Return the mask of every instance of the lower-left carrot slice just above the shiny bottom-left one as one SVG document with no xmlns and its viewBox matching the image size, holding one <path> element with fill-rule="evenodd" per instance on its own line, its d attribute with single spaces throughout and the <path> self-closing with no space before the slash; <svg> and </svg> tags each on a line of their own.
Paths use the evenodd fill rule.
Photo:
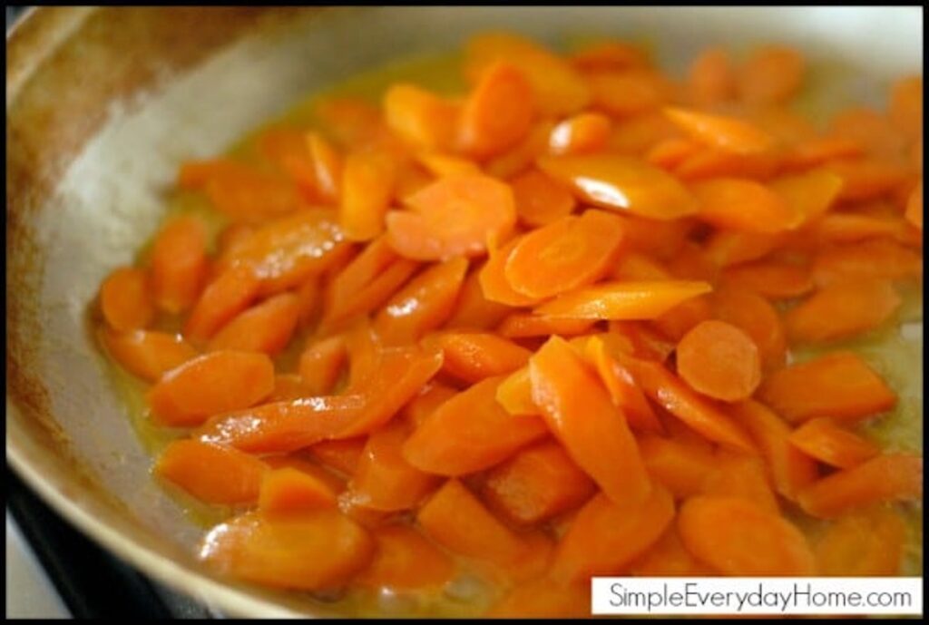
<svg viewBox="0 0 929 625">
<path fill-rule="evenodd" d="M 198 440 L 176 440 L 155 463 L 155 475 L 207 503 L 254 503 L 268 466 L 242 451 Z"/>
</svg>

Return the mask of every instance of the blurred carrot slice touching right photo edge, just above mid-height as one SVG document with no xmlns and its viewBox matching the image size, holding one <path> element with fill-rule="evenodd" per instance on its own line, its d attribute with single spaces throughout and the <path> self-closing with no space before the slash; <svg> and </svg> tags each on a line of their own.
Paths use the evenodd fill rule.
<svg viewBox="0 0 929 625">
<path fill-rule="evenodd" d="M 818 285 L 866 278 L 904 280 L 920 276 L 922 256 L 888 239 L 825 247 L 813 259 L 813 280 Z"/>
</svg>

